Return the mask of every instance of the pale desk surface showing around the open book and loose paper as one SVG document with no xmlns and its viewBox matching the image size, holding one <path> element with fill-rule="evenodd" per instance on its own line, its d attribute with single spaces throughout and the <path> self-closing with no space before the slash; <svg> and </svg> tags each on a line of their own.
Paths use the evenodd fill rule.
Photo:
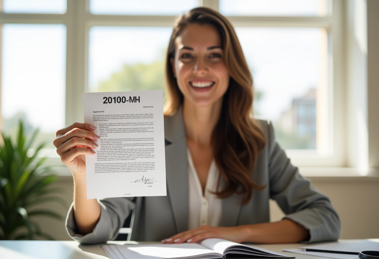
<svg viewBox="0 0 379 259">
<path fill-rule="evenodd" d="M 379 239 L 370 239 L 379 242 Z M 340 240 L 341 242 L 357 240 Z M 127 241 L 109 241 L 113 244 L 137 243 Z M 141 242 L 147 243 L 147 242 Z M 321 259 L 321 257 L 282 252 L 283 248 L 297 248 L 304 244 L 259 245 L 278 253 L 296 256 L 296 259 Z M 0 240 L 0 259 L 99 259 L 108 258 L 100 245 L 81 245 L 76 241 L 7 241 Z M 232 258 L 232 257 L 229 257 Z"/>
</svg>

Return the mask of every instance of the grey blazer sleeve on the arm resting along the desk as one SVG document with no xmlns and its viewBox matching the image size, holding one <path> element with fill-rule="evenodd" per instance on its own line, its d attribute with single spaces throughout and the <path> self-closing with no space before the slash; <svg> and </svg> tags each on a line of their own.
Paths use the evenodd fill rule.
<svg viewBox="0 0 379 259">
<path fill-rule="evenodd" d="M 294 167 L 274 137 L 274 129 L 268 123 L 269 185 L 270 198 L 275 200 L 284 218 L 296 222 L 310 232 L 307 243 L 337 240 L 341 223 L 329 198 L 316 190 L 308 179 Z"/>
</svg>

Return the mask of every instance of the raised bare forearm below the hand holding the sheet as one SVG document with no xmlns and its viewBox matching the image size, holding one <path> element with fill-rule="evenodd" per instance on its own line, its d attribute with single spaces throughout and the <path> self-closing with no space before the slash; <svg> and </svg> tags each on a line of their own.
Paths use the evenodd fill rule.
<svg viewBox="0 0 379 259">
<path fill-rule="evenodd" d="M 74 217 L 78 234 L 91 233 L 100 218 L 96 199 L 87 199 L 86 175 L 74 175 Z"/>
</svg>

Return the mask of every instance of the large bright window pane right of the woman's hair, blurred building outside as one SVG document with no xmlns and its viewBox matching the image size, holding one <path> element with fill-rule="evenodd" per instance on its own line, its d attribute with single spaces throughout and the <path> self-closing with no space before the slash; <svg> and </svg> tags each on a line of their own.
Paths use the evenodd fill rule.
<svg viewBox="0 0 379 259">
<path fill-rule="evenodd" d="M 309 110 L 316 113 L 316 99 L 328 98 L 317 96 L 328 87 L 326 30 L 236 27 L 236 33 L 253 74 L 255 114 L 273 122 L 283 148 L 316 150 L 316 137 L 327 136 L 316 136 L 316 117 Z M 326 119 L 318 123 L 327 124 Z"/>
</svg>

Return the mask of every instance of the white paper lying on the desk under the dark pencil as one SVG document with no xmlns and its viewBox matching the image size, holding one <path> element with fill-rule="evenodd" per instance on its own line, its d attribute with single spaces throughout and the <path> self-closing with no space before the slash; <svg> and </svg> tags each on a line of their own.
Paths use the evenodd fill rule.
<svg viewBox="0 0 379 259">
<path fill-rule="evenodd" d="M 358 259 L 359 252 L 367 250 L 379 251 L 379 242 L 373 242 L 368 240 L 360 240 L 353 242 L 330 242 L 321 245 L 310 245 L 294 249 L 283 249 L 283 251 L 285 252 L 309 254 L 313 256 L 335 259 Z"/>
</svg>

